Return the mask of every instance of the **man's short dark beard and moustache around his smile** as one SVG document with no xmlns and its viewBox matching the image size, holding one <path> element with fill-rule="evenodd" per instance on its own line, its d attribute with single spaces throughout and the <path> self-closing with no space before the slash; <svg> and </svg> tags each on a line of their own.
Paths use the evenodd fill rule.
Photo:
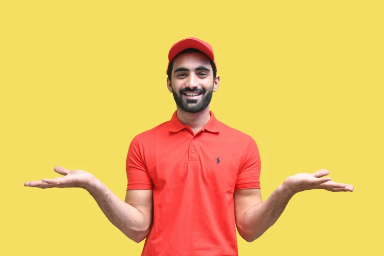
<svg viewBox="0 0 384 256">
<path fill-rule="evenodd" d="M 183 94 L 186 92 L 199 92 L 203 96 L 199 100 L 191 100 L 191 99 L 183 99 Z M 209 103 L 212 100 L 212 95 L 213 95 L 213 85 L 212 88 L 207 92 L 203 88 L 182 88 L 179 90 L 179 92 L 176 92 L 173 89 L 172 86 L 172 93 L 173 93 L 173 98 L 175 99 L 176 104 L 185 112 L 189 113 L 198 113 L 205 109 Z"/>
</svg>

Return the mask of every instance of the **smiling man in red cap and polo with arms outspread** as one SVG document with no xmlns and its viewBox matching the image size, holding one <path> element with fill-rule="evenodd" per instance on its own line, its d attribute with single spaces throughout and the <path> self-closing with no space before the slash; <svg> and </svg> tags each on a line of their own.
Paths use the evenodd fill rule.
<svg viewBox="0 0 384 256">
<path fill-rule="evenodd" d="M 125 202 L 83 170 L 25 186 L 81 187 L 105 216 L 135 242 L 142 256 L 235 256 L 236 229 L 252 242 L 271 227 L 298 192 L 353 191 L 327 170 L 288 177 L 262 202 L 260 157 L 254 139 L 219 122 L 209 110 L 220 77 L 211 46 L 183 39 L 168 55 L 167 87 L 177 110 L 171 120 L 131 141 Z"/>
</svg>

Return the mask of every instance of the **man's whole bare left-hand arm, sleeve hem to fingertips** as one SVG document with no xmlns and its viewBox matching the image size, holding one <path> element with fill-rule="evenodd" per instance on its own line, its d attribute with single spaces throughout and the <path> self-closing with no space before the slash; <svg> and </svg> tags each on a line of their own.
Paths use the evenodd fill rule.
<svg viewBox="0 0 384 256">
<path fill-rule="evenodd" d="M 90 173 L 82 170 L 69 171 L 63 167 L 55 167 L 54 171 L 65 176 L 27 181 L 24 185 L 39 188 L 83 188 L 95 199 L 108 220 L 129 239 L 138 243 L 148 235 L 153 214 L 152 190 L 128 190 L 126 202 L 123 202 Z"/>
</svg>

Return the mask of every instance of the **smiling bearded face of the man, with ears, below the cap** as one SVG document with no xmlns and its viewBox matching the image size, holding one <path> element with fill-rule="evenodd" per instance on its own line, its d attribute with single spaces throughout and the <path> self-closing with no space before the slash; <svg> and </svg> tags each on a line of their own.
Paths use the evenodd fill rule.
<svg viewBox="0 0 384 256">
<path fill-rule="evenodd" d="M 167 87 L 179 108 L 198 113 L 211 102 L 219 81 L 220 77 L 213 79 L 212 67 L 205 54 L 188 52 L 173 60 L 172 80 L 167 78 Z"/>
</svg>

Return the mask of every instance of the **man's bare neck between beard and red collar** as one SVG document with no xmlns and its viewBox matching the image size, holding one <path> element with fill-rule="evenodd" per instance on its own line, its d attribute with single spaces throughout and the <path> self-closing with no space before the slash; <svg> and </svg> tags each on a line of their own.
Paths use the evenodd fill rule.
<svg viewBox="0 0 384 256">
<path fill-rule="evenodd" d="M 177 106 L 178 118 L 184 126 L 189 126 L 195 133 L 203 128 L 211 118 L 209 114 L 209 105 L 198 113 L 185 112 Z"/>
</svg>

